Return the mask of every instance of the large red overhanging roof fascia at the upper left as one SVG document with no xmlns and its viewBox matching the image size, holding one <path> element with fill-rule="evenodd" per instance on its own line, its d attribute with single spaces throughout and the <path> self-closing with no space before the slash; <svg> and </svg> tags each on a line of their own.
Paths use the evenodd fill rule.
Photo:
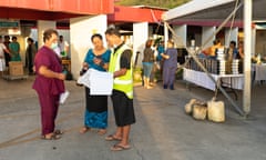
<svg viewBox="0 0 266 160">
<path fill-rule="evenodd" d="M 1 0 L 0 18 L 57 20 L 113 13 L 113 0 Z"/>
</svg>

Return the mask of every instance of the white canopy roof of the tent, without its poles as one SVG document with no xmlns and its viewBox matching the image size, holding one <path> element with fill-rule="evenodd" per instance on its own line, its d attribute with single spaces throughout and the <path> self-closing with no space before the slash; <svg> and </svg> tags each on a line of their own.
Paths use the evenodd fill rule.
<svg viewBox="0 0 266 160">
<path fill-rule="evenodd" d="M 242 1 L 242 0 L 239 0 Z M 193 0 L 164 13 L 170 23 L 222 22 L 235 8 L 236 0 Z M 266 20 L 266 0 L 253 1 L 253 21 Z M 236 12 L 236 21 L 243 21 L 243 6 Z"/>
</svg>

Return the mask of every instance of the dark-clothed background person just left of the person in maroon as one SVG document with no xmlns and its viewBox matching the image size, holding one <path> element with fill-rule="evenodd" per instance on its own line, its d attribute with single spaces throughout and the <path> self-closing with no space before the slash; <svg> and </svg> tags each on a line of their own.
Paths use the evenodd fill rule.
<svg viewBox="0 0 266 160">
<path fill-rule="evenodd" d="M 32 38 L 27 39 L 28 47 L 25 49 L 25 67 L 28 68 L 29 74 L 33 74 L 33 63 L 37 53 L 34 40 Z"/>
</svg>

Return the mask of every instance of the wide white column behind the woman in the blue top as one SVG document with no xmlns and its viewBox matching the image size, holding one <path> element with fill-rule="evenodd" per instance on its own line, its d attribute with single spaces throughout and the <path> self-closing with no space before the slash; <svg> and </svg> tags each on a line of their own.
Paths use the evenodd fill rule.
<svg viewBox="0 0 266 160">
<path fill-rule="evenodd" d="M 74 79 L 79 77 L 88 50 L 93 47 L 91 36 L 94 33 L 102 34 L 106 46 L 104 37 L 108 19 L 105 14 L 70 19 L 71 72 Z"/>
</svg>

